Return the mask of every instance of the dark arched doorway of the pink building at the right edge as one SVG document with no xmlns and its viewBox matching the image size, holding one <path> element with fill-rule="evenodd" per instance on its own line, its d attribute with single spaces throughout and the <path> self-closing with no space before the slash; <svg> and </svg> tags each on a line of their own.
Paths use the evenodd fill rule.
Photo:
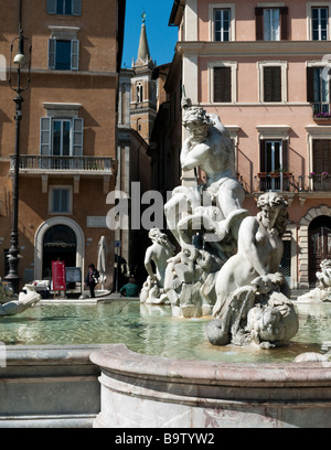
<svg viewBox="0 0 331 450">
<path fill-rule="evenodd" d="M 331 217 L 318 216 L 309 225 L 309 286 L 317 283 L 321 261 L 331 259 Z"/>
</svg>

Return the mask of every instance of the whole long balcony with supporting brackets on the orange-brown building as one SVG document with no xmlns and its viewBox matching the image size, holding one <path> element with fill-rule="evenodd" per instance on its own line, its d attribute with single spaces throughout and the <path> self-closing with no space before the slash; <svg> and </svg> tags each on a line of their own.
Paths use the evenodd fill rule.
<svg viewBox="0 0 331 450">
<path fill-rule="evenodd" d="M 10 157 L 10 174 L 13 173 L 14 157 Z M 75 193 L 79 192 L 82 176 L 104 179 L 104 193 L 109 192 L 111 175 L 116 176 L 117 161 L 104 157 L 43 157 L 23 154 L 19 161 L 20 175 L 42 176 L 43 192 L 47 192 L 49 176 L 73 176 Z"/>
</svg>

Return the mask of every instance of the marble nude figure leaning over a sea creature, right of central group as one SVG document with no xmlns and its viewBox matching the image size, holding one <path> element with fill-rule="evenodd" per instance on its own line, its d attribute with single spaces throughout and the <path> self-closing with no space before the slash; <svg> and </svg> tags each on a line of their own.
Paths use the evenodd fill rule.
<svg viewBox="0 0 331 450">
<path fill-rule="evenodd" d="M 258 199 L 260 212 L 246 217 L 238 234 L 238 251 L 220 270 L 214 321 L 206 335 L 215 345 L 257 343 L 270 347 L 298 332 L 298 317 L 289 287 L 278 272 L 286 229 L 287 202 L 277 193 Z"/>
</svg>

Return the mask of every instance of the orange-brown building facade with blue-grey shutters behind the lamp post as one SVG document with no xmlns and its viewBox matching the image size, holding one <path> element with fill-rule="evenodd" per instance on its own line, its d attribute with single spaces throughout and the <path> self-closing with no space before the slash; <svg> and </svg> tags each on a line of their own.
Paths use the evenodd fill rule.
<svg viewBox="0 0 331 450">
<path fill-rule="evenodd" d="M 19 160 L 19 275 L 51 277 L 51 264 L 97 264 L 107 243 L 113 282 L 114 233 L 106 226 L 117 175 L 117 99 L 125 0 L 24 0 L 22 29 L 32 44 Z M 0 0 L 0 54 L 9 66 L 19 32 L 19 0 Z M 26 49 L 26 47 L 25 47 Z M 13 69 L 13 78 L 14 72 Z M 25 78 L 24 78 L 25 77 Z M 26 69 L 22 69 L 23 82 Z M 13 79 L 14 82 L 14 79 Z M 8 68 L 0 81 L 0 276 L 8 271 L 14 154 L 14 93 Z"/>
</svg>

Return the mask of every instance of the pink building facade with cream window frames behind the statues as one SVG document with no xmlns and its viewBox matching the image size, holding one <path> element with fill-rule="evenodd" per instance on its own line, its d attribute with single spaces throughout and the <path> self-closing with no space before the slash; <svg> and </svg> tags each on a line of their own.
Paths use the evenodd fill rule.
<svg viewBox="0 0 331 450">
<path fill-rule="evenodd" d="M 288 200 L 281 270 L 314 286 L 331 258 L 331 1 L 175 0 L 170 24 L 186 96 L 233 137 L 245 206 Z"/>
</svg>

